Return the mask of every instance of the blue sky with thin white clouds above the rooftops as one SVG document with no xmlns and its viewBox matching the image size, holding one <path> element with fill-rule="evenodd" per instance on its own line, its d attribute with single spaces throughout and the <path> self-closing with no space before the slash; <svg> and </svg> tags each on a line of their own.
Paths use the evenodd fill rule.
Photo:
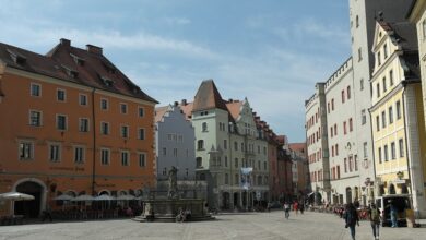
<svg viewBox="0 0 426 240">
<path fill-rule="evenodd" d="M 305 141 L 305 99 L 351 55 L 348 0 L 0 0 L 0 41 L 104 48 L 145 93 L 192 100 L 213 79 L 277 134 Z"/>
</svg>

